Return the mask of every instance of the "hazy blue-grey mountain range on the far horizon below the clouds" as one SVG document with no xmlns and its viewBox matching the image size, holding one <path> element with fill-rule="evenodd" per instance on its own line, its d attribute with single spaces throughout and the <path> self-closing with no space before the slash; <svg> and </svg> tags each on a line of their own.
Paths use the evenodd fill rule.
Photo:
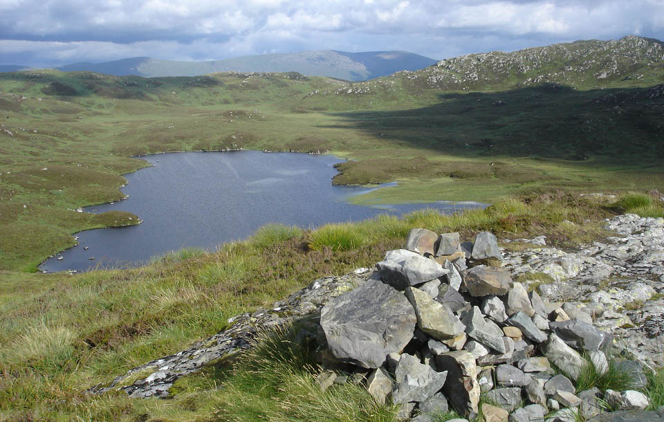
<svg viewBox="0 0 664 422">
<path fill-rule="evenodd" d="M 350 81 L 369 80 L 398 71 L 417 71 L 436 64 L 436 60 L 406 51 L 369 51 L 346 53 L 319 50 L 299 53 L 264 54 L 234 57 L 212 62 L 175 62 L 150 57 L 131 57 L 103 63 L 73 63 L 60 71 L 93 71 L 108 75 L 198 76 L 214 72 L 298 72 Z"/>
</svg>

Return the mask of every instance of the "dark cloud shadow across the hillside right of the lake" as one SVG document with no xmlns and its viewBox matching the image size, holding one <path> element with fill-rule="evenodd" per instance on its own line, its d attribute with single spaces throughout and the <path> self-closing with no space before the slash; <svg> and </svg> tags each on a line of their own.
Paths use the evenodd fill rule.
<svg viewBox="0 0 664 422">
<path fill-rule="evenodd" d="M 660 90 L 661 91 L 661 90 Z M 664 158 L 664 95 L 541 86 L 451 93 L 428 107 L 335 113 L 376 140 L 453 156 L 539 157 L 643 166 Z"/>
</svg>

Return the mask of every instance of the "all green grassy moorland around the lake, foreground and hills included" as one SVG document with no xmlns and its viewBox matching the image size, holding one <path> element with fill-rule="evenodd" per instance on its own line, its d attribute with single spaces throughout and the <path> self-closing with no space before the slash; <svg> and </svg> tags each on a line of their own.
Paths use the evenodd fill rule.
<svg viewBox="0 0 664 422">
<path fill-rule="evenodd" d="M 643 51 L 660 44 L 647 41 Z M 585 57 L 593 45 L 564 51 Z M 297 365 L 270 363 L 262 351 L 254 366 L 213 365 L 178 381 L 167 401 L 82 391 L 316 277 L 371 266 L 413 227 L 464 239 L 478 230 L 547 235 L 573 247 L 605 235 L 601 221 L 616 212 L 661 215 L 661 202 L 643 193 L 664 191 L 661 60 L 627 61 L 599 78 L 598 68 L 560 71 L 583 62 L 559 53 L 522 53 L 539 66 L 522 73 L 518 61 L 498 68 L 503 55 L 481 55 L 356 84 L 297 73 L 0 73 L 0 420 L 311 421 L 324 419 L 321 409 L 335 421 L 394 420 L 394 409 L 376 407 L 361 389 L 317 392 L 304 349 L 288 352 L 300 356 Z M 495 66 L 477 67 L 488 62 Z M 534 83 L 538 72 L 553 76 Z M 75 211 L 121 199 L 122 174 L 147 165 L 131 156 L 239 148 L 330 152 L 349 159 L 333 183 L 399 182 L 353 197 L 358 203 L 495 205 L 313 232 L 268 227 L 214 253 L 183 250 L 140 268 L 33 273 L 72 246 L 74 232 L 145 217 Z"/>
</svg>

